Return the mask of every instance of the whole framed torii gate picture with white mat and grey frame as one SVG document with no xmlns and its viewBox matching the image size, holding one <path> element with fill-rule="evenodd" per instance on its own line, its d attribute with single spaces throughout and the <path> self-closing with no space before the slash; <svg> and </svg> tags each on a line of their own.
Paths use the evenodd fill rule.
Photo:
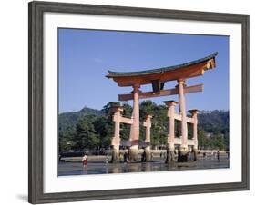
<svg viewBox="0 0 256 205">
<path fill-rule="evenodd" d="M 249 190 L 249 15 L 28 7 L 30 203 Z"/>
</svg>

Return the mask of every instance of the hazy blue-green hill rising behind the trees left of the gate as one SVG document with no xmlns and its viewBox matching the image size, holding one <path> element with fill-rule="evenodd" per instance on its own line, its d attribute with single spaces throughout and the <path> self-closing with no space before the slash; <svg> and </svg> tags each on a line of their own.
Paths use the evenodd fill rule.
<svg viewBox="0 0 256 205">
<path fill-rule="evenodd" d="M 102 116 L 104 113 L 97 109 L 88 108 L 85 106 L 78 112 L 64 112 L 58 114 L 58 126 L 60 131 L 65 131 L 67 128 L 74 127 L 78 120 L 87 115 Z"/>
</svg>

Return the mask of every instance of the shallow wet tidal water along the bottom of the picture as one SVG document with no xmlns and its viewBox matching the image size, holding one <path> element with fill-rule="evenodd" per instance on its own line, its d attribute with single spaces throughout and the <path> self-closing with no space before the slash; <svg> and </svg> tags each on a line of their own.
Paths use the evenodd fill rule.
<svg viewBox="0 0 256 205">
<path fill-rule="evenodd" d="M 84 168 L 81 162 L 59 162 L 58 176 L 84 175 L 84 174 L 110 174 L 110 173 L 129 173 L 144 171 L 184 171 L 198 169 L 221 169 L 229 168 L 230 161 L 222 156 L 220 161 L 215 158 L 200 158 L 198 161 L 189 161 L 186 163 L 174 163 L 168 165 L 163 159 L 156 159 L 151 162 L 133 162 L 133 163 L 106 163 L 103 161 L 88 161 Z"/>
</svg>

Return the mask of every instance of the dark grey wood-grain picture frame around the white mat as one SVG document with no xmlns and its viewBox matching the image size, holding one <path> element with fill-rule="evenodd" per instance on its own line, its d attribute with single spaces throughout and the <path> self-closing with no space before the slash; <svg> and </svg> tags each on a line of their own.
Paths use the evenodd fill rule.
<svg viewBox="0 0 256 205">
<path fill-rule="evenodd" d="M 219 184 L 169 186 L 124 190 L 93 190 L 44 193 L 43 181 L 43 15 L 46 12 L 150 17 L 209 22 L 238 23 L 242 26 L 242 181 Z M 52 2 L 28 4 L 28 201 L 30 203 L 78 200 L 110 200 L 175 194 L 249 190 L 249 15 L 191 12 L 109 5 L 81 5 Z"/>
</svg>

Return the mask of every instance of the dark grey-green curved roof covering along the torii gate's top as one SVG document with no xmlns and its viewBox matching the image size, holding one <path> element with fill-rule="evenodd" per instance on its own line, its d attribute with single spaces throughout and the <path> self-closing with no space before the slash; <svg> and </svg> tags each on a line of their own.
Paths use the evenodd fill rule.
<svg viewBox="0 0 256 205">
<path fill-rule="evenodd" d="M 153 73 L 162 73 L 170 70 L 176 70 L 182 67 L 190 66 L 193 64 L 197 63 L 203 63 L 211 58 L 215 58 L 215 56 L 218 54 L 218 52 L 215 52 L 213 54 L 210 54 L 206 57 L 200 58 L 198 60 L 194 60 L 188 63 L 181 63 L 178 65 L 173 65 L 173 66 L 168 66 L 168 67 L 162 67 L 162 68 L 156 68 L 156 69 L 149 69 L 149 70 L 144 70 L 144 71 L 136 71 L 136 72 L 114 72 L 114 71 L 109 71 L 108 70 L 108 75 L 106 77 L 111 78 L 111 77 L 123 77 L 123 76 L 136 76 L 136 75 L 147 75 L 147 74 L 153 74 Z"/>
</svg>

